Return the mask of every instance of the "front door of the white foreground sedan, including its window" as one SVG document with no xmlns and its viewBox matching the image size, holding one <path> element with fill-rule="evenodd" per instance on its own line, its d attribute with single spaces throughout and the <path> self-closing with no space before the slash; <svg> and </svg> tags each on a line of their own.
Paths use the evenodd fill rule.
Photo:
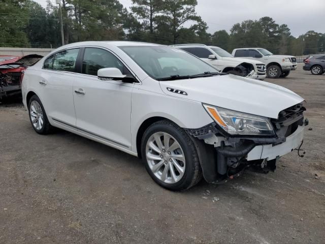
<svg viewBox="0 0 325 244">
<path fill-rule="evenodd" d="M 97 71 L 118 68 L 125 75 L 131 73 L 106 49 L 83 48 L 80 59 L 81 74 L 73 84 L 77 129 L 108 144 L 130 149 L 134 83 L 101 80 Z"/>
</svg>

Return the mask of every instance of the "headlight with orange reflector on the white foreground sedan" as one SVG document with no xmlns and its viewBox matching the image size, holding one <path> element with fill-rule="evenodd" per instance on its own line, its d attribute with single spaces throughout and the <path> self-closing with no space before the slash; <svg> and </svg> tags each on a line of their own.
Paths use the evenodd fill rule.
<svg viewBox="0 0 325 244">
<path fill-rule="evenodd" d="M 270 119 L 249 113 L 203 104 L 218 125 L 232 135 L 274 135 Z"/>
</svg>

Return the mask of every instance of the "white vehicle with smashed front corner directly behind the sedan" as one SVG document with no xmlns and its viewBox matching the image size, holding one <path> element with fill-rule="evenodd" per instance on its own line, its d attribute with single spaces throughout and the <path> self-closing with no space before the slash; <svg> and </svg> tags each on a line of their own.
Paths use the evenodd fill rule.
<svg viewBox="0 0 325 244">
<path fill-rule="evenodd" d="M 235 58 L 232 54 L 220 47 L 206 46 L 203 44 L 172 46 L 196 55 L 221 72 L 258 80 L 264 80 L 266 77 L 266 66 L 264 63 L 248 58 Z"/>
</svg>

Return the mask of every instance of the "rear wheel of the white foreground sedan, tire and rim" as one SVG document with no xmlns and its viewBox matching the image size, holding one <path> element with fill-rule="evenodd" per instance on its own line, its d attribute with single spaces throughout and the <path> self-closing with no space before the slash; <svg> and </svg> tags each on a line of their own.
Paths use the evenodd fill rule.
<svg viewBox="0 0 325 244">
<path fill-rule="evenodd" d="M 52 126 L 47 119 L 45 109 L 38 96 L 34 95 L 30 98 L 28 112 L 31 126 L 37 133 L 46 135 L 51 132 Z"/>
</svg>

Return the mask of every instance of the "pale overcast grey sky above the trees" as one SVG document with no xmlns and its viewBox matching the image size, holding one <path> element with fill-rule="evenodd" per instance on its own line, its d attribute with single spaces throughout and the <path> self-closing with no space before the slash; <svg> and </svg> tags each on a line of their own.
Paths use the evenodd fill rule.
<svg viewBox="0 0 325 244">
<path fill-rule="evenodd" d="M 35 1 L 45 4 L 45 0 Z M 119 2 L 127 9 L 131 7 L 131 0 Z M 236 23 L 264 16 L 279 25 L 287 24 L 295 37 L 311 30 L 325 33 L 325 0 L 198 0 L 196 11 L 207 22 L 211 34 L 220 29 L 229 32 Z"/>
</svg>

